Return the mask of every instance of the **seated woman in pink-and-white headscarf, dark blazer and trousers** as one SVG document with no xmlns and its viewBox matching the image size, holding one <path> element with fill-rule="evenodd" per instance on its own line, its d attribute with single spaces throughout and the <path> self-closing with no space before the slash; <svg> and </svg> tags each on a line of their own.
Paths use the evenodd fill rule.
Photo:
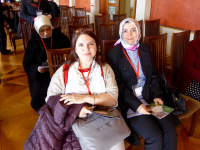
<svg viewBox="0 0 200 150">
<path fill-rule="evenodd" d="M 139 23 L 132 18 L 124 19 L 119 36 L 115 47 L 108 52 L 108 64 L 118 84 L 121 113 L 132 131 L 132 137 L 127 140 L 140 145 L 136 132 L 145 139 L 145 149 L 176 150 L 176 125 L 171 115 L 155 118 L 145 106 L 153 101 L 156 105 L 163 104 L 163 101 L 150 50 L 139 44 Z"/>
</svg>

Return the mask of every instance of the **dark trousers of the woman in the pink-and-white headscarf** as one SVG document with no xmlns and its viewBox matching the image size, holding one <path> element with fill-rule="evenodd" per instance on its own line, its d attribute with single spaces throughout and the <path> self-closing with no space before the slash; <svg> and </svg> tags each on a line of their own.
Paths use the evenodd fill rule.
<svg viewBox="0 0 200 150">
<path fill-rule="evenodd" d="M 141 115 L 128 119 L 131 130 L 145 139 L 145 150 L 176 150 L 176 125 L 171 115 L 157 119 Z"/>
</svg>

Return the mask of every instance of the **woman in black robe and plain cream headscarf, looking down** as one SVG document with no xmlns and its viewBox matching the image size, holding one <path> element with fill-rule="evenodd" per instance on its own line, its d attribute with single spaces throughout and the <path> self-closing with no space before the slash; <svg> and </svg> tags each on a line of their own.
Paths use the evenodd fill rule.
<svg viewBox="0 0 200 150">
<path fill-rule="evenodd" d="M 45 104 L 50 75 L 47 69 L 41 69 L 43 62 L 47 61 L 46 49 L 59 49 L 70 47 L 67 36 L 53 29 L 47 16 L 35 19 L 34 27 L 37 32 L 32 34 L 24 54 L 23 66 L 28 76 L 31 93 L 31 106 L 37 111 Z"/>
</svg>

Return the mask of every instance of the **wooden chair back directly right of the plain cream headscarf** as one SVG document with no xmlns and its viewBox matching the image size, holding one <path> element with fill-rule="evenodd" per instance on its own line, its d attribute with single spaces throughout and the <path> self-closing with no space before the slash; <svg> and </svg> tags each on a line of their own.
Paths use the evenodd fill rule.
<svg viewBox="0 0 200 150">
<path fill-rule="evenodd" d="M 60 26 L 61 32 L 66 36 L 68 35 L 67 17 L 53 18 L 53 19 L 51 19 L 51 24 L 53 27 Z"/>
</svg>

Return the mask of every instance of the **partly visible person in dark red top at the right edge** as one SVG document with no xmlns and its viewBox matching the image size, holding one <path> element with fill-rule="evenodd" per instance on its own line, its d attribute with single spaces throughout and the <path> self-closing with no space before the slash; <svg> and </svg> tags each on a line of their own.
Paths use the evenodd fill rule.
<svg viewBox="0 0 200 150">
<path fill-rule="evenodd" d="M 200 101 L 200 40 L 186 47 L 176 86 L 181 93 Z"/>
</svg>

